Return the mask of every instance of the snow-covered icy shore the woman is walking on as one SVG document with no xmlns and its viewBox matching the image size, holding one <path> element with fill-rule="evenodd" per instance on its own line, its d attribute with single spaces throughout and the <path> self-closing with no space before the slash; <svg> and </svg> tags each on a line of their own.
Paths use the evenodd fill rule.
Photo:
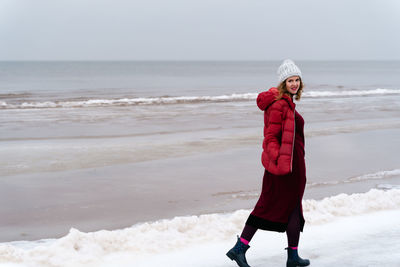
<svg viewBox="0 0 400 267">
<path fill-rule="evenodd" d="M 315 266 L 396 266 L 400 189 L 372 189 L 304 201 L 301 255 Z M 225 257 L 249 210 L 176 217 L 114 231 L 71 229 L 60 239 L 0 244 L 0 266 L 235 266 Z M 263 232 L 251 242 L 252 266 L 282 265 L 286 237 Z"/>
</svg>

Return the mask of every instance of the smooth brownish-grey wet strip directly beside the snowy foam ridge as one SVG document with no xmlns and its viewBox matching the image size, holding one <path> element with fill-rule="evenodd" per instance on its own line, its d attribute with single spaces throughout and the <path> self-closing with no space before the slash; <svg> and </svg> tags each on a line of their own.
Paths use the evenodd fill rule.
<svg viewBox="0 0 400 267">
<path fill-rule="evenodd" d="M 399 169 L 399 129 L 306 140 L 309 183 Z M 261 189 L 261 147 L 74 171 L 3 176 L 0 242 L 120 229 L 180 215 L 252 208 Z M 310 186 L 306 198 L 366 192 L 400 177 Z"/>
</svg>

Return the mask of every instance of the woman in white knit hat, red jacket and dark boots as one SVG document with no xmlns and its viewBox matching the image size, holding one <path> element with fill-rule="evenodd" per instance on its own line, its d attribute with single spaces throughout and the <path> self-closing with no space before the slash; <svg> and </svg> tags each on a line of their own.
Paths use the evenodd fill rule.
<svg viewBox="0 0 400 267">
<path fill-rule="evenodd" d="M 295 110 L 303 91 L 301 71 L 291 60 L 278 69 L 279 86 L 257 97 L 264 111 L 262 164 L 265 168 L 260 198 L 246 221 L 236 245 L 226 254 L 240 267 L 247 267 L 245 253 L 257 229 L 286 232 L 286 266 L 308 266 L 298 256 L 297 246 L 304 217 L 302 198 L 306 185 L 304 161 L 304 120 Z"/>
</svg>

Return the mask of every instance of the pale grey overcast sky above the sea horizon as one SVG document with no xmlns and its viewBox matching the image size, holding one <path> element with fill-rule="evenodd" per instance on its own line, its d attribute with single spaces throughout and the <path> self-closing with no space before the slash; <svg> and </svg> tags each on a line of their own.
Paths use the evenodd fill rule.
<svg viewBox="0 0 400 267">
<path fill-rule="evenodd" d="M 400 60 L 400 0 L 0 0 L 0 60 Z"/>
</svg>

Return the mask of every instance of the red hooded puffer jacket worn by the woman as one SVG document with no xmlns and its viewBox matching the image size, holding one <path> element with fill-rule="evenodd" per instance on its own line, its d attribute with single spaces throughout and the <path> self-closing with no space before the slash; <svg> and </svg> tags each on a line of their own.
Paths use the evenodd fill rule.
<svg viewBox="0 0 400 267">
<path fill-rule="evenodd" d="M 257 105 L 264 111 L 261 162 L 268 172 L 285 175 L 292 172 L 296 104 L 287 95 L 276 100 L 278 94 L 273 87 L 257 97 Z"/>
</svg>

